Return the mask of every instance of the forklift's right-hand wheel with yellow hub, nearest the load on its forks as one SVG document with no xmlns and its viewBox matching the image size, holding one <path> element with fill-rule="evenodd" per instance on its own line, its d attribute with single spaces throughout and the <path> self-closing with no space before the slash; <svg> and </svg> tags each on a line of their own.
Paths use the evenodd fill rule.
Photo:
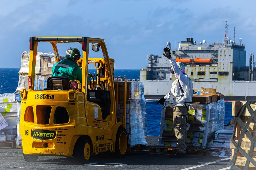
<svg viewBox="0 0 256 170">
<path fill-rule="evenodd" d="M 127 151 L 128 139 L 125 128 L 119 127 L 116 134 L 116 155 L 118 158 L 125 157 Z"/>
</svg>

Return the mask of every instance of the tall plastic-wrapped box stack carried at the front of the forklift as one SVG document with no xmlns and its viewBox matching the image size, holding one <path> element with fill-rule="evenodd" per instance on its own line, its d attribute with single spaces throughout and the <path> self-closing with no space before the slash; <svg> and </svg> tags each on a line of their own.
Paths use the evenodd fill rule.
<svg viewBox="0 0 256 170">
<path fill-rule="evenodd" d="M 115 82 L 117 95 L 117 82 Z M 123 116 L 125 99 L 125 82 L 118 82 L 117 117 Z M 137 144 L 147 145 L 146 99 L 142 82 L 127 82 L 126 92 L 126 131 L 130 147 Z"/>
</svg>

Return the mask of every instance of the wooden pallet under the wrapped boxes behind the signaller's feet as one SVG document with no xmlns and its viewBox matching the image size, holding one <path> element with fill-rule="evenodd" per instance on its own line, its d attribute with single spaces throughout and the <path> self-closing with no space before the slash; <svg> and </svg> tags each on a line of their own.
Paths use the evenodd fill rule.
<svg viewBox="0 0 256 170">
<path fill-rule="evenodd" d="M 167 147 L 167 146 L 149 146 L 150 154 L 158 155 L 170 155 L 172 152 L 176 152 L 177 147 Z M 206 156 L 206 150 L 202 148 L 187 148 L 186 151 L 189 156 Z"/>
</svg>

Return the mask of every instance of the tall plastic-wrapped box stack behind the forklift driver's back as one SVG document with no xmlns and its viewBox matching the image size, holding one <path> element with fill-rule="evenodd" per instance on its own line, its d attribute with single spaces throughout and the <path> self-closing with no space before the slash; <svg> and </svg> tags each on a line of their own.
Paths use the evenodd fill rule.
<svg viewBox="0 0 256 170">
<path fill-rule="evenodd" d="M 15 93 L 20 93 L 21 89 L 26 88 L 28 84 L 28 68 L 29 68 L 29 51 L 21 54 L 21 69 L 19 70 L 19 84 Z M 64 57 L 60 56 L 60 60 Z M 52 76 L 52 67 L 55 64 L 55 56 L 53 53 L 38 52 L 36 55 L 35 66 L 35 90 L 47 88 L 47 79 Z"/>
</svg>

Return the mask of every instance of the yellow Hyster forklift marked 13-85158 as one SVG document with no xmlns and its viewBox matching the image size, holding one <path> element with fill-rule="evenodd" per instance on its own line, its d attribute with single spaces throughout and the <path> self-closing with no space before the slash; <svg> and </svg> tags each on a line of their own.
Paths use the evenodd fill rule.
<svg viewBox="0 0 256 170">
<path fill-rule="evenodd" d="M 81 44 L 83 54 L 77 64 L 83 72 L 82 82 L 51 76 L 47 80 L 47 88 L 34 90 L 39 42 L 52 45 L 56 62 L 60 61 L 58 43 Z M 90 46 L 94 52 L 100 52 L 101 49 L 102 58 L 89 58 Z M 128 145 L 126 95 L 122 99 L 123 115 L 117 116 L 115 60 L 109 58 L 104 40 L 88 37 L 30 37 L 29 49 L 28 86 L 21 90 L 19 124 L 24 159 L 35 162 L 39 155 L 73 155 L 86 162 L 91 154 L 101 152 L 115 152 L 118 157 L 124 157 Z M 94 64 L 96 76 L 88 73 L 88 64 Z M 124 81 L 126 85 L 125 78 Z"/>
</svg>

